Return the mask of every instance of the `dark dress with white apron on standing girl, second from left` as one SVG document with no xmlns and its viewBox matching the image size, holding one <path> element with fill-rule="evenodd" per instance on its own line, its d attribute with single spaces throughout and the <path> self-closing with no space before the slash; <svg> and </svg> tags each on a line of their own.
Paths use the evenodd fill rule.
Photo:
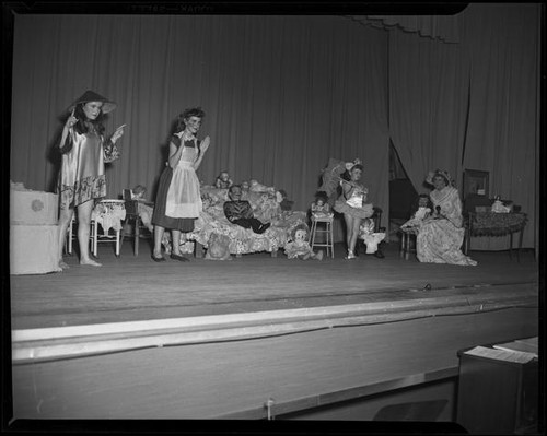
<svg viewBox="0 0 547 436">
<path fill-rule="evenodd" d="M 182 135 L 182 132 L 179 133 Z M 175 168 L 166 166 L 160 177 L 155 197 L 152 224 L 181 232 L 191 232 L 194 222 L 202 211 L 199 179 L 194 163 L 199 153 L 199 143 L 181 141 L 174 134 L 172 142 L 183 146 L 181 160 Z"/>
</svg>

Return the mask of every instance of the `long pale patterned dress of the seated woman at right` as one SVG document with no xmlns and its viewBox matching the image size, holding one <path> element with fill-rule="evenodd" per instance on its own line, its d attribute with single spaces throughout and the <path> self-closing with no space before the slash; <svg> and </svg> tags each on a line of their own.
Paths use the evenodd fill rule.
<svg viewBox="0 0 547 436">
<path fill-rule="evenodd" d="M 433 209 L 441 208 L 446 219 L 426 219 L 417 236 L 417 257 L 420 262 L 476 266 L 477 262 L 462 252 L 465 229 L 462 202 L 457 190 L 447 186 L 430 195 Z"/>
</svg>

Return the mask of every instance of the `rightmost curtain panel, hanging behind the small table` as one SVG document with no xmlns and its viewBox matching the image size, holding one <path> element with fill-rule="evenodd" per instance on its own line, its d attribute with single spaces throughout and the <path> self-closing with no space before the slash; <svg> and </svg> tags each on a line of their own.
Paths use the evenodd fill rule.
<svg viewBox="0 0 547 436">
<path fill-rule="evenodd" d="M 472 13 L 473 12 L 473 13 Z M 539 236 L 539 4 L 473 4 L 464 40 L 473 68 L 464 168 L 490 173 L 490 197 L 528 215 L 524 247 Z M 474 238 L 475 249 L 507 249 L 507 238 Z M 536 247 L 537 248 L 537 247 Z"/>
</svg>

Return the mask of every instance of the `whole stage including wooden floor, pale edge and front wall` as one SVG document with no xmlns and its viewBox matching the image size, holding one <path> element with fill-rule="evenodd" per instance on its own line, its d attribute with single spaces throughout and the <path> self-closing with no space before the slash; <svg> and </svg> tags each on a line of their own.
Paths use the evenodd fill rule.
<svg viewBox="0 0 547 436">
<path fill-rule="evenodd" d="M 11 276 L 15 419 L 282 416 L 454 380 L 458 350 L 538 331 L 532 250 L 458 267 L 396 243 L 351 261 L 341 245 L 323 261 L 156 263 L 147 248 Z"/>
</svg>

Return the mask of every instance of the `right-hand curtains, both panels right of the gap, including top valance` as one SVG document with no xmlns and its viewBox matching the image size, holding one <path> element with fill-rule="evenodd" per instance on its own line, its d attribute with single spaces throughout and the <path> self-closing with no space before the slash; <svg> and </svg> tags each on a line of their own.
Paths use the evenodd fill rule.
<svg viewBox="0 0 547 436">
<path fill-rule="evenodd" d="M 472 3 L 452 17 L 369 19 L 389 32 L 389 133 L 415 188 L 427 190 L 438 167 L 458 189 L 465 168 L 489 172 L 490 197 L 527 213 L 523 246 L 536 252 L 540 16 L 537 3 Z M 472 241 L 507 247 L 507 238 Z"/>
</svg>

